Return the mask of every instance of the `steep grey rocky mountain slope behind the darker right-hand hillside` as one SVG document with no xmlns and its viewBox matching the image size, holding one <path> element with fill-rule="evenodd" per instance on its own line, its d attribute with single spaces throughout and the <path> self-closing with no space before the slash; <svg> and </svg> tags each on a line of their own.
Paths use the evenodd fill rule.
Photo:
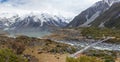
<svg viewBox="0 0 120 62">
<path fill-rule="evenodd" d="M 67 27 L 88 27 L 91 26 L 90 23 L 93 22 L 102 13 L 108 10 L 114 3 L 120 0 L 102 0 L 96 2 L 94 5 L 81 12 L 76 16 Z"/>
</svg>

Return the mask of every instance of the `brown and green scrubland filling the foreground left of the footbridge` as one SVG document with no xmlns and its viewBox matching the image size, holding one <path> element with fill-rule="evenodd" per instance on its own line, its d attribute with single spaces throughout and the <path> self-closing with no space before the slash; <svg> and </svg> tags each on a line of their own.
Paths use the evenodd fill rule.
<svg viewBox="0 0 120 62">
<path fill-rule="evenodd" d="M 50 39 L 39 39 L 27 36 L 19 36 L 16 38 L 0 36 L 0 62 L 27 62 L 27 60 L 28 62 L 39 62 L 39 60 L 45 61 L 44 58 L 41 59 L 42 57 L 40 57 L 42 54 L 48 53 L 53 58 L 54 55 L 57 54 L 65 57 L 66 54 L 72 54 L 76 52 L 76 50 L 77 48 L 73 46 L 54 42 Z"/>
</svg>

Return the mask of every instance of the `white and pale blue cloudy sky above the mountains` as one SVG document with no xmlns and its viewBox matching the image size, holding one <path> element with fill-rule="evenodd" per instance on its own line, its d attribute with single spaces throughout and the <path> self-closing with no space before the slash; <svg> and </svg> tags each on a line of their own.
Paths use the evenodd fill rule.
<svg viewBox="0 0 120 62">
<path fill-rule="evenodd" d="M 0 11 L 41 11 L 72 17 L 99 0 L 0 0 Z"/>
</svg>

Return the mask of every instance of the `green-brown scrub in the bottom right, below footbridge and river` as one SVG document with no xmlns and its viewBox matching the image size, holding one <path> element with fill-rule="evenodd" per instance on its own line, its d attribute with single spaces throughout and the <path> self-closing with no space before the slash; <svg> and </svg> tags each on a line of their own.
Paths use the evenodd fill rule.
<svg viewBox="0 0 120 62">
<path fill-rule="evenodd" d="M 119 56 L 119 51 L 89 50 L 78 58 L 67 57 L 66 62 L 116 62 Z"/>
</svg>

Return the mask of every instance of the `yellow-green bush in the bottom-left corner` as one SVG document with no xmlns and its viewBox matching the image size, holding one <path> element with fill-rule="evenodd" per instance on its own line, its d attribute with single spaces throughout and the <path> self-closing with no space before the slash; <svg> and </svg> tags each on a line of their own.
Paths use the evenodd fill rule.
<svg viewBox="0 0 120 62">
<path fill-rule="evenodd" d="M 28 62 L 10 49 L 0 49 L 0 62 Z"/>
</svg>

